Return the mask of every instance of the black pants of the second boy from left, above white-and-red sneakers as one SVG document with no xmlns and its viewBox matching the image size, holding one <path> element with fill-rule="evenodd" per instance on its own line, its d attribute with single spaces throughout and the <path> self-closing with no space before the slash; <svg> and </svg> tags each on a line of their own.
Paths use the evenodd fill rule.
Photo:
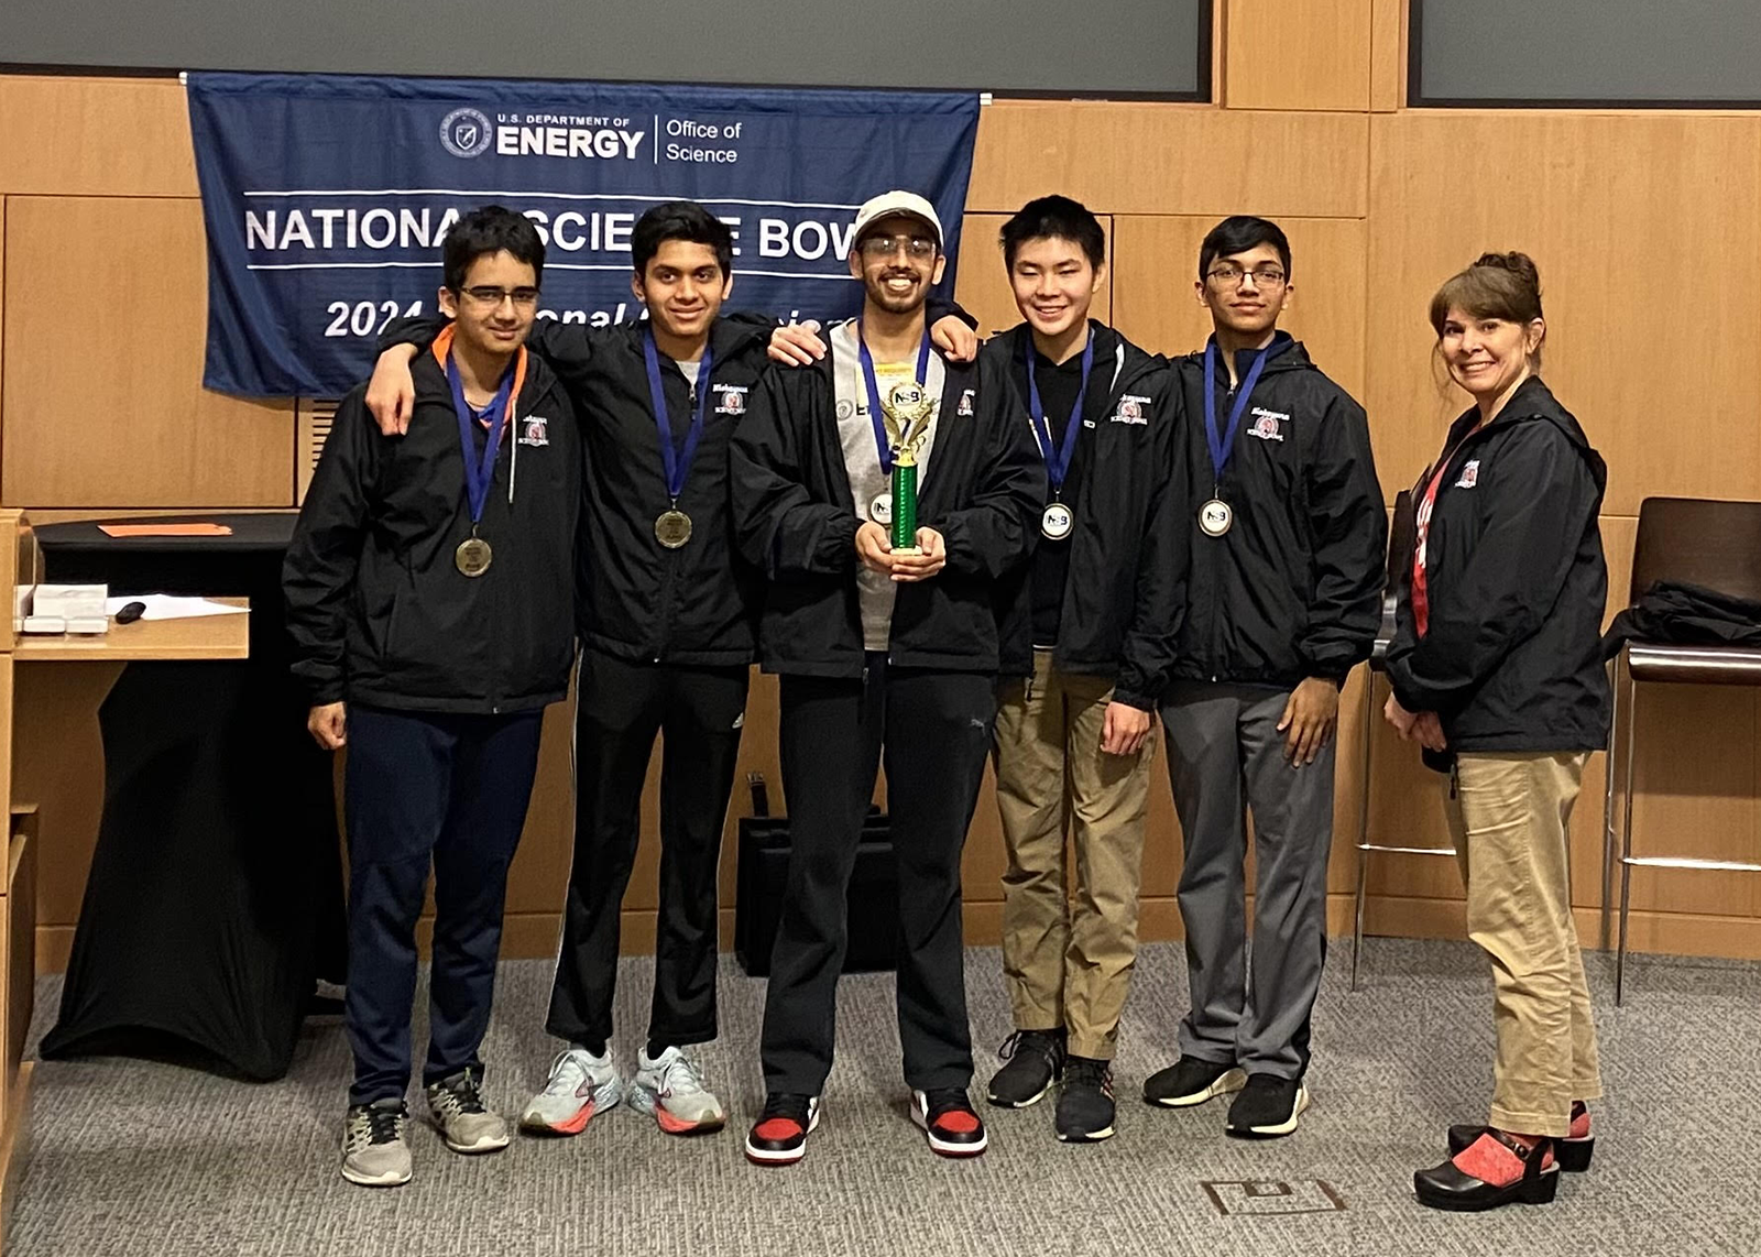
<svg viewBox="0 0 1761 1257">
<path fill-rule="evenodd" d="M 740 667 L 637 664 L 581 655 L 574 718 L 574 866 L 546 1026 L 611 1037 L 618 915 L 641 836 L 643 780 L 660 752 L 660 914 L 648 1037 L 715 1039 L 715 875 L 747 708 Z"/>
</svg>

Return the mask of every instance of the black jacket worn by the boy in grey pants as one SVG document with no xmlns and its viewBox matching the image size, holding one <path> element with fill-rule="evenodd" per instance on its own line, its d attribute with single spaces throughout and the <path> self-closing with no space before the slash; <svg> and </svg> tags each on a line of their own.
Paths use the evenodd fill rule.
<svg viewBox="0 0 1761 1257">
<path fill-rule="evenodd" d="M 1242 379 L 1257 350 L 1242 350 Z M 1293 687 L 1344 683 L 1370 657 L 1382 620 L 1388 509 L 1370 424 L 1351 400 L 1277 333 L 1220 486 L 1205 440 L 1205 354 L 1175 363 L 1185 428 L 1187 613 L 1175 676 Z M 1217 364 L 1217 430 L 1227 430 L 1229 371 Z M 1213 489 L 1234 511 L 1222 537 L 1197 514 Z"/>
</svg>

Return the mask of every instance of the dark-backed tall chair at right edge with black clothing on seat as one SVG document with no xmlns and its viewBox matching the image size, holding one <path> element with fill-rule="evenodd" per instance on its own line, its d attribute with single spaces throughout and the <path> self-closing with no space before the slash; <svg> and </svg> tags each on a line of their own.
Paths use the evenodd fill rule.
<svg viewBox="0 0 1761 1257">
<path fill-rule="evenodd" d="M 1632 546 L 1629 604 L 1657 581 L 1682 581 L 1708 590 L 1761 600 L 1761 502 L 1705 498 L 1645 498 L 1639 504 L 1638 540 Z M 1622 671 L 1625 702 L 1622 704 Z M 1620 1005 L 1627 968 L 1627 907 L 1634 868 L 1698 868 L 1761 873 L 1761 864 L 1687 856 L 1632 854 L 1632 761 L 1638 750 L 1638 687 L 1761 685 L 1761 650 L 1740 646 L 1668 646 L 1632 641 L 1613 660 L 1615 711 L 1608 739 L 1608 785 L 1603 799 L 1603 947 L 1615 871 L 1615 778 L 1624 796 L 1620 824 L 1620 945 L 1615 956 L 1615 1005 Z M 1625 718 L 1622 718 L 1622 711 Z"/>
</svg>

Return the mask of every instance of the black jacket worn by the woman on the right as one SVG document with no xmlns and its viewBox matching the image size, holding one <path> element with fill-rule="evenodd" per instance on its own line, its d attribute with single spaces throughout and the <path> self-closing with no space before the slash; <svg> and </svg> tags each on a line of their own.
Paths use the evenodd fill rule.
<svg viewBox="0 0 1761 1257">
<path fill-rule="evenodd" d="M 1439 715 L 1451 752 L 1601 750 L 1608 468 L 1539 377 L 1476 423 L 1469 410 L 1444 442 L 1425 542 L 1428 628 L 1421 639 L 1412 623 L 1407 555 L 1388 680 L 1407 711 Z"/>
</svg>

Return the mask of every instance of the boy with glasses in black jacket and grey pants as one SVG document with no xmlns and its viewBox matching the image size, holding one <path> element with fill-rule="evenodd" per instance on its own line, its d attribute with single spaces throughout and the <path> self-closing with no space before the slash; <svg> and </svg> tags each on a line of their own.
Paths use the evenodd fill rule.
<svg viewBox="0 0 1761 1257">
<path fill-rule="evenodd" d="M 1308 1107 L 1338 692 L 1381 621 L 1388 516 L 1363 407 L 1278 331 L 1294 289 L 1277 224 L 1220 222 L 1196 287 L 1215 334 L 1176 364 L 1189 593 L 1162 702 L 1192 1005 L 1180 1060 L 1143 1092 L 1171 1107 L 1240 1092 L 1227 1132 L 1275 1137 Z"/>
</svg>

